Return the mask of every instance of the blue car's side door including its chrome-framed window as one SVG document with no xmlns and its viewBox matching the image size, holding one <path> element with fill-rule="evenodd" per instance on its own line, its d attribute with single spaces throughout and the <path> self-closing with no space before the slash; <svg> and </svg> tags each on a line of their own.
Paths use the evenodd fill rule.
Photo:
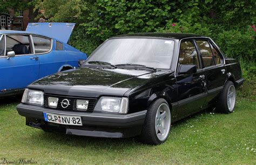
<svg viewBox="0 0 256 165">
<path fill-rule="evenodd" d="M 4 54 L 0 57 L 0 92 L 25 88 L 38 79 L 39 63 L 29 34 L 3 35 Z M 7 54 L 15 53 L 8 57 Z"/>
</svg>

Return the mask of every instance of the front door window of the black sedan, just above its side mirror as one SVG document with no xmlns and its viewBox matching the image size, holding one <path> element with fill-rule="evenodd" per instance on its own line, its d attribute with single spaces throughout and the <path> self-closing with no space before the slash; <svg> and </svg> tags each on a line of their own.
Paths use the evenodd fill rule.
<svg viewBox="0 0 256 165">
<path fill-rule="evenodd" d="M 179 64 L 194 64 L 200 68 L 196 46 L 193 41 L 180 43 Z"/>
</svg>

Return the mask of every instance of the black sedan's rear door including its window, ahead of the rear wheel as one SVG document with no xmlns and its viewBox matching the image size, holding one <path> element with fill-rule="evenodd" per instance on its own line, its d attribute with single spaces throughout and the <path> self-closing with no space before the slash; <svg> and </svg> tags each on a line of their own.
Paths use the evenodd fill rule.
<svg viewBox="0 0 256 165">
<path fill-rule="evenodd" d="M 226 81 L 224 58 L 209 39 L 197 39 L 197 46 L 206 74 L 207 98 L 204 106 L 214 100 L 223 89 Z"/>
</svg>

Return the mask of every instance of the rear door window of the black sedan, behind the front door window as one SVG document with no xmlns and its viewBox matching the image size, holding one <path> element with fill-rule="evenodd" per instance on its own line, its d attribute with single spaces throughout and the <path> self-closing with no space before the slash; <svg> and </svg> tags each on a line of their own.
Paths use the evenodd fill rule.
<svg viewBox="0 0 256 165">
<path fill-rule="evenodd" d="M 199 47 L 203 63 L 205 67 L 214 66 L 214 59 L 212 54 L 212 49 L 210 47 L 210 44 L 206 40 L 198 40 L 197 45 Z"/>
</svg>

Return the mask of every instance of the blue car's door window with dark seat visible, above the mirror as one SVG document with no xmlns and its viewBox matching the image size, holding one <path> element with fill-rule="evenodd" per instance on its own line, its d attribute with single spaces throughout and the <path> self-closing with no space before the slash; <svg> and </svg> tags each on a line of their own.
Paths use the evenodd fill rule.
<svg viewBox="0 0 256 165">
<path fill-rule="evenodd" d="M 11 51 L 15 55 L 32 54 L 29 35 L 6 35 L 6 55 Z"/>
</svg>

